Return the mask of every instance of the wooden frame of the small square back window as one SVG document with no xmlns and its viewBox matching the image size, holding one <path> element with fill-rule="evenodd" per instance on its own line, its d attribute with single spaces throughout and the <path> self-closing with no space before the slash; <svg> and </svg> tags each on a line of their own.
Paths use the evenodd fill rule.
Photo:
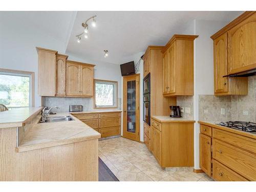
<svg viewBox="0 0 256 192">
<path fill-rule="evenodd" d="M 96 106 L 96 82 L 110 82 L 110 83 L 115 83 L 116 84 L 116 94 L 115 96 L 113 95 L 113 101 L 115 102 L 115 106 L 105 106 L 105 105 L 101 105 L 101 106 Z M 118 81 L 111 81 L 111 80 L 103 80 L 103 79 L 94 79 L 93 81 L 93 88 L 94 88 L 94 103 L 93 103 L 93 107 L 94 109 L 117 109 L 118 108 Z M 116 97 L 116 99 L 115 99 Z"/>
</svg>

